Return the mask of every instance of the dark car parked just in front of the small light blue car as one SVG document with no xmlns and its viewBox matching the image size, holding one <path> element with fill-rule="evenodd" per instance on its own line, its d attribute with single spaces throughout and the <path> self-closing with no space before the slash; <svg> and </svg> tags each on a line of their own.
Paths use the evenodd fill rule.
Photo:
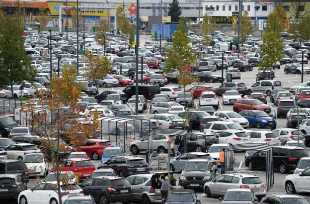
<svg viewBox="0 0 310 204">
<path fill-rule="evenodd" d="M 128 177 L 134 174 L 149 173 L 149 166 L 141 157 L 118 156 L 109 159 L 107 162 L 99 164 L 100 168 L 112 168 L 122 177 Z"/>
</svg>

